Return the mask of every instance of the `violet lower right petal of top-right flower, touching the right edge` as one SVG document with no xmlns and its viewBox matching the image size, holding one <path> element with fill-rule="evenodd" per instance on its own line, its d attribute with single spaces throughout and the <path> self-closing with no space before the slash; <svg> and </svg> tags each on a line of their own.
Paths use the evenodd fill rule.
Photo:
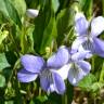
<svg viewBox="0 0 104 104">
<path fill-rule="evenodd" d="M 93 38 L 95 53 L 104 57 L 104 41 L 99 38 Z"/>
</svg>

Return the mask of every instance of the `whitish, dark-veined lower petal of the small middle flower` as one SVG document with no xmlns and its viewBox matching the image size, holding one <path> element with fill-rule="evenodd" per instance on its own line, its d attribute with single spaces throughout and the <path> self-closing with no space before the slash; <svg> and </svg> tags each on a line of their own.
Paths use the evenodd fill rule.
<svg viewBox="0 0 104 104">
<path fill-rule="evenodd" d="M 83 78 L 84 73 L 82 72 L 81 68 L 77 67 L 72 67 L 68 72 L 68 81 L 73 86 L 77 86 L 77 83 Z"/>
</svg>

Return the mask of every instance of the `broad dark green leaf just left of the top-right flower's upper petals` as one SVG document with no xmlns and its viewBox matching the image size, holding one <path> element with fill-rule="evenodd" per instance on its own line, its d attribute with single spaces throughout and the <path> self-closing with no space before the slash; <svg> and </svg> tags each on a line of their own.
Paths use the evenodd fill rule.
<svg viewBox="0 0 104 104">
<path fill-rule="evenodd" d="M 74 10 L 70 8 L 62 10 L 56 17 L 57 27 L 57 44 L 62 44 L 63 40 L 69 32 L 69 28 L 74 25 Z"/>
</svg>

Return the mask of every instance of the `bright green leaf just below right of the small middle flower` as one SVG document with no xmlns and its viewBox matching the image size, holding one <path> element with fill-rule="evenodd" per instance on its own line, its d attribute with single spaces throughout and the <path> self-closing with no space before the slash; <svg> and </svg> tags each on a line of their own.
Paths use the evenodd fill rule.
<svg viewBox="0 0 104 104">
<path fill-rule="evenodd" d="M 96 81 L 96 78 L 92 74 L 89 74 L 82 80 L 79 81 L 78 87 L 80 87 L 82 90 L 90 91 L 91 86 L 95 81 Z"/>
</svg>

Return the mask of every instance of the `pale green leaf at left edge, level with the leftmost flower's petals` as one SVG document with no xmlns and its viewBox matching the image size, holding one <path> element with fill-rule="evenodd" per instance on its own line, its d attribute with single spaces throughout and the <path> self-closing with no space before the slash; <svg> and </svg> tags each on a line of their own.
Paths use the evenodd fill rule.
<svg viewBox="0 0 104 104">
<path fill-rule="evenodd" d="M 0 70 L 10 67 L 10 64 L 5 57 L 4 53 L 0 53 Z"/>
</svg>

